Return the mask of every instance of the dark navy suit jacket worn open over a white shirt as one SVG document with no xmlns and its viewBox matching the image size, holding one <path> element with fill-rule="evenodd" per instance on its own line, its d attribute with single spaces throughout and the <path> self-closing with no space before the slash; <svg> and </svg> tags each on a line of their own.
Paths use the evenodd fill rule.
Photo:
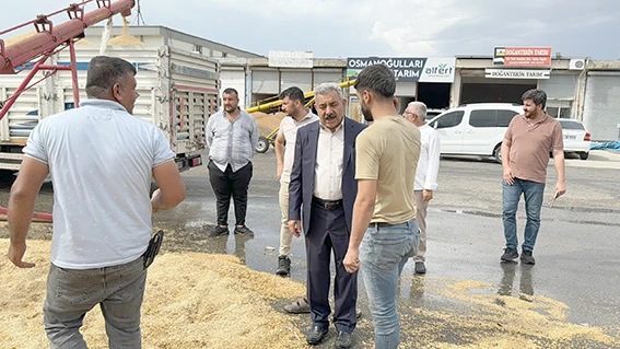
<svg viewBox="0 0 620 349">
<path fill-rule="evenodd" d="M 358 195 L 355 181 L 355 138 L 366 127 L 344 117 L 344 154 L 342 155 L 342 207 L 347 226 L 351 231 L 353 203 Z M 308 232 L 312 197 L 314 194 L 314 168 L 318 146 L 320 121 L 315 121 L 297 130 L 295 161 L 289 184 L 289 220 L 301 220 L 304 233 Z M 303 217 L 302 217 L 303 209 Z"/>
</svg>

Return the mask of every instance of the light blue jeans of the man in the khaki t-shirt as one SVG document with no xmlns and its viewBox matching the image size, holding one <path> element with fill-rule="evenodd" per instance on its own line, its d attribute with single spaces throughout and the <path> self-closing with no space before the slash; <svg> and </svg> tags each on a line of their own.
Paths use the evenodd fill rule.
<svg viewBox="0 0 620 349">
<path fill-rule="evenodd" d="M 416 220 L 402 224 L 371 224 L 360 245 L 361 270 L 375 324 L 375 349 L 398 348 L 396 313 L 398 278 L 416 256 L 420 232 Z"/>
</svg>

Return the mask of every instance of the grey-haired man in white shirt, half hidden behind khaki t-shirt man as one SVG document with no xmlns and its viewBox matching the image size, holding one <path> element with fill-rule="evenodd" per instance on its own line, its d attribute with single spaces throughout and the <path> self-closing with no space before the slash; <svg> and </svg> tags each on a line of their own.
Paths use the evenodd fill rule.
<svg viewBox="0 0 620 349">
<path fill-rule="evenodd" d="M 420 130 L 421 149 L 418 170 L 416 171 L 416 221 L 420 228 L 420 244 L 416 254 L 416 272 L 425 274 L 426 253 L 426 209 L 433 199 L 433 190 L 437 188 L 440 173 L 440 135 L 426 123 L 426 105 L 422 102 L 411 102 L 402 116 L 413 123 Z"/>
</svg>

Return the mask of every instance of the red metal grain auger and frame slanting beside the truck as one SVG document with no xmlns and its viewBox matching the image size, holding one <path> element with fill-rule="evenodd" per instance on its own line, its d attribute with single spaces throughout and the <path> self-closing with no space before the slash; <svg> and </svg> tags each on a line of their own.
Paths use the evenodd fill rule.
<svg viewBox="0 0 620 349">
<path fill-rule="evenodd" d="M 67 9 L 48 15 L 38 15 L 36 20 L 0 32 L 0 35 L 7 34 L 28 24 L 34 24 L 37 32 L 35 35 L 9 46 L 4 44 L 4 40 L 0 39 L 0 74 L 15 74 L 17 73 L 15 68 L 40 57 L 13 95 L 7 100 L 3 105 L 0 104 L 0 119 L 9 113 L 9 108 L 15 103 L 15 100 L 25 90 L 32 88 L 32 85 L 28 86 L 28 83 L 39 70 L 52 70 L 52 72 L 58 70 L 71 70 L 73 102 L 75 107 L 79 106 L 80 91 L 78 88 L 78 71 L 75 66 L 75 42 L 84 36 L 84 30 L 86 27 L 118 13 L 127 16 L 131 14 L 131 9 L 136 4 L 134 0 L 118 0 L 114 3 L 110 0 L 96 0 L 98 9 L 84 13 L 82 5 L 92 1 L 93 0 L 86 0 L 81 3 L 73 3 Z M 69 21 L 55 26 L 48 18 L 65 11 L 69 15 Z M 71 57 L 69 67 L 44 65 L 47 58 L 52 54 L 67 47 L 69 47 Z"/>
</svg>

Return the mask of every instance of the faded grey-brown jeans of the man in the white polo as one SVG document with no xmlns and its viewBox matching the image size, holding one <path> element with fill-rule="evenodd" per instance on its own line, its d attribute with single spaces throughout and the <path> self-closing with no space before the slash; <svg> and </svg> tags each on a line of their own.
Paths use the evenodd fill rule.
<svg viewBox="0 0 620 349">
<path fill-rule="evenodd" d="M 86 313 L 100 305 L 110 349 L 141 348 L 140 306 L 147 269 L 142 257 L 93 269 L 49 268 L 44 325 L 50 348 L 87 348 L 80 334 Z"/>
</svg>

